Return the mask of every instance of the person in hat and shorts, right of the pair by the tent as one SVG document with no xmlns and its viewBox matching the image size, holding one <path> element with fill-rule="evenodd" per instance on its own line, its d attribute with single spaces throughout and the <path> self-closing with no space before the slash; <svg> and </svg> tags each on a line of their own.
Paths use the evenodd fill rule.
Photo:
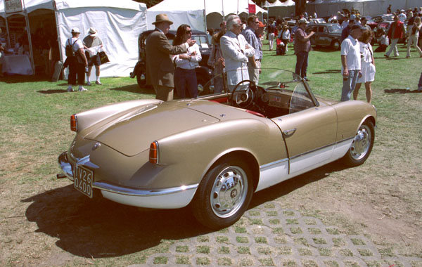
<svg viewBox="0 0 422 267">
<path fill-rule="evenodd" d="M 88 72 L 87 72 L 88 86 L 91 85 L 90 76 L 91 76 L 91 70 L 92 70 L 93 65 L 95 65 L 95 75 L 96 75 L 95 83 L 98 85 L 101 85 L 101 82 L 100 82 L 101 60 L 98 54 L 98 50 L 100 48 L 103 48 L 103 41 L 101 41 L 100 37 L 98 37 L 97 35 L 98 35 L 97 30 L 95 30 L 94 27 L 90 27 L 89 34 L 87 35 L 87 37 L 84 38 L 84 41 L 83 41 L 85 49 L 91 48 L 91 51 L 96 51 L 95 56 L 90 56 L 89 52 L 85 51 L 85 55 L 88 58 Z"/>
</svg>

